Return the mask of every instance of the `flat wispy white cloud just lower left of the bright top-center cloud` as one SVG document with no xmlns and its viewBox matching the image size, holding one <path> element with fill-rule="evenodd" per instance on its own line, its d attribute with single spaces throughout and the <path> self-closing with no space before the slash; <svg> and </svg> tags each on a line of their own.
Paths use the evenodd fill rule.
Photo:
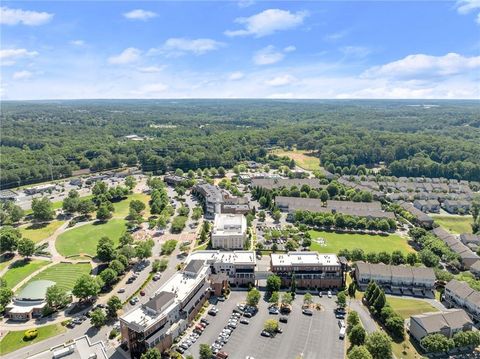
<svg viewBox="0 0 480 359">
<path fill-rule="evenodd" d="M 203 55 L 209 51 L 218 50 L 225 44 L 213 39 L 187 39 L 187 38 L 170 38 L 160 49 L 153 49 L 151 53 L 164 53 L 170 56 L 179 56 L 185 53 L 193 53 L 195 55 Z"/>
</svg>

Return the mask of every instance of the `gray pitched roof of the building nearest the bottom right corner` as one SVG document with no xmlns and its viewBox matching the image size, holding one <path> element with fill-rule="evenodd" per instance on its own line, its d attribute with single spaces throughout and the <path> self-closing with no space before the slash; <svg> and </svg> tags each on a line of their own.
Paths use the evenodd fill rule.
<svg viewBox="0 0 480 359">
<path fill-rule="evenodd" d="M 439 332 L 445 327 L 459 329 L 466 325 L 473 325 L 468 314 L 463 309 L 412 315 L 411 320 L 416 321 L 429 334 Z"/>
</svg>

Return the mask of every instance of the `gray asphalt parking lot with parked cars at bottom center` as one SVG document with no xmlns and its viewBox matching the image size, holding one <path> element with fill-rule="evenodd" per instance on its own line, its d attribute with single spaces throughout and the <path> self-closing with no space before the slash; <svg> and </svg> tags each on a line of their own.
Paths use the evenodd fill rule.
<svg viewBox="0 0 480 359">
<path fill-rule="evenodd" d="M 214 343 L 237 303 L 244 301 L 245 297 L 246 292 L 232 291 L 227 301 L 217 303 L 218 314 L 215 317 L 206 315 L 210 325 L 184 355 L 198 358 L 200 344 Z M 338 338 L 340 328 L 333 312 L 335 298 L 316 296 L 314 302 L 321 303 L 323 309 L 315 310 L 313 316 L 306 316 L 301 310 L 303 295 L 297 295 L 293 310 L 287 316 L 288 323 L 280 323 L 283 333 L 267 338 L 260 335 L 265 320 L 279 319 L 281 315 L 268 314 L 268 303 L 261 299 L 259 311 L 250 318 L 250 324 L 239 323 L 221 350 L 232 359 L 245 359 L 247 356 L 255 359 L 313 359 L 319 358 L 319 353 L 328 353 L 328 358 L 343 358 L 344 341 Z"/>
</svg>

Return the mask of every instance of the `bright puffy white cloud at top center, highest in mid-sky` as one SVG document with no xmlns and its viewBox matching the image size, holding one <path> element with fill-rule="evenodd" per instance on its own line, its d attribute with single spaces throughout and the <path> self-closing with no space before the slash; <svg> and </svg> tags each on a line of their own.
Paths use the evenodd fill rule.
<svg viewBox="0 0 480 359">
<path fill-rule="evenodd" d="M 225 31 L 225 35 L 267 36 L 277 31 L 295 28 L 301 25 L 307 16 L 308 12 L 306 11 L 292 13 L 286 10 L 268 9 L 250 17 L 240 17 L 235 19 L 236 23 L 245 25 L 245 28 L 240 30 L 227 30 Z"/>
</svg>

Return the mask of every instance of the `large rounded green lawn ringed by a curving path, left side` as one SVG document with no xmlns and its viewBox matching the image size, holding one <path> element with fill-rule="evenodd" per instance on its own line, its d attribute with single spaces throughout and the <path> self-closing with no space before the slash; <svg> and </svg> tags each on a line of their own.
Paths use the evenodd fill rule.
<svg viewBox="0 0 480 359">
<path fill-rule="evenodd" d="M 111 219 L 106 223 L 90 223 L 72 228 L 58 236 L 55 247 L 63 256 L 90 254 L 95 256 L 97 244 L 101 237 L 107 236 L 118 244 L 118 239 L 125 232 L 125 220 Z"/>
</svg>

